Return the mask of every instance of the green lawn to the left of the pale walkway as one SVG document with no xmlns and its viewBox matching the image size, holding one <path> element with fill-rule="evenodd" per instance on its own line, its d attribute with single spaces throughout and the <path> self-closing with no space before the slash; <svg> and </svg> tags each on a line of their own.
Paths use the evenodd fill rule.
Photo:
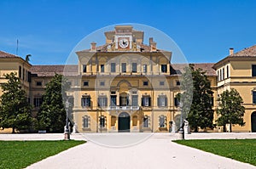
<svg viewBox="0 0 256 169">
<path fill-rule="evenodd" d="M 0 168 L 24 168 L 84 141 L 0 141 Z"/>
</svg>

